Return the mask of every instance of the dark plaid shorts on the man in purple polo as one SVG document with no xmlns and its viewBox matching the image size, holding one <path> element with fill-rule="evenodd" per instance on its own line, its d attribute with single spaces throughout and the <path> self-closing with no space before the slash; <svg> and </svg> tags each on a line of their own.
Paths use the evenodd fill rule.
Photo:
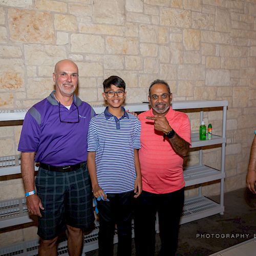
<svg viewBox="0 0 256 256">
<path fill-rule="evenodd" d="M 41 199 L 42 217 L 37 234 L 44 240 L 57 237 L 66 224 L 89 227 L 94 222 L 92 186 L 87 163 L 75 171 L 60 173 L 39 167 L 35 185 Z"/>
</svg>

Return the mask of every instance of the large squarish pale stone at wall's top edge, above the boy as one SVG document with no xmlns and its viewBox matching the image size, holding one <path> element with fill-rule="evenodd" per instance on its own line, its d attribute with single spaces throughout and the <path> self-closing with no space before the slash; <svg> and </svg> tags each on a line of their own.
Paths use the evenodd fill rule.
<svg viewBox="0 0 256 256">
<path fill-rule="evenodd" d="M 123 25 L 124 0 L 93 1 L 94 22 Z"/>
</svg>

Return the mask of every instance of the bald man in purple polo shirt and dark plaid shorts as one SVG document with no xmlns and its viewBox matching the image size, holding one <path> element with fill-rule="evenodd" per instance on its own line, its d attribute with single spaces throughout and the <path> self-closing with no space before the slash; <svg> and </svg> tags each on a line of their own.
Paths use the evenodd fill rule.
<svg viewBox="0 0 256 256">
<path fill-rule="evenodd" d="M 82 228 L 94 221 L 87 133 L 95 112 L 74 94 L 78 68 L 73 61 L 57 62 L 53 81 L 56 91 L 26 114 L 18 151 L 28 210 L 38 216 L 39 255 L 57 255 L 58 235 L 67 228 L 74 256 L 82 252 Z M 34 162 L 40 163 L 35 182 Z"/>
</svg>

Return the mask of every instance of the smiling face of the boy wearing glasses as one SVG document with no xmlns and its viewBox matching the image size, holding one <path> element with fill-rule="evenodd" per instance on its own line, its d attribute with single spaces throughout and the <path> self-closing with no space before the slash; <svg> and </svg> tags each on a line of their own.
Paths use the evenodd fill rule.
<svg viewBox="0 0 256 256">
<path fill-rule="evenodd" d="M 115 93 L 114 96 L 111 97 L 112 95 L 108 95 L 108 92 L 120 92 L 121 95 L 123 96 L 119 96 L 118 93 Z M 106 100 L 106 102 L 108 102 L 108 105 L 110 108 L 117 109 L 117 108 L 120 108 L 120 106 L 122 105 L 126 96 L 126 92 L 124 92 L 123 88 L 118 88 L 116 86 L 113 86 L 113 84 L 111 84 L 111 87 L 106 88 L 104 93 L 102 93 L 102 96 Z"/>
</svg>

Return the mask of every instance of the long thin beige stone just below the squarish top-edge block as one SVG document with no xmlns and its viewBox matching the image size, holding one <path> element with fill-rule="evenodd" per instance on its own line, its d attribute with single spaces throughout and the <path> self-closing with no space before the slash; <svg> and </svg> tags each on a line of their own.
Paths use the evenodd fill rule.
<svg viewBox="0 0 256 256">
<path fill-rule="evenodd" d="M 123 27 L 105 24 L 81 24 L 79 28 L 80 33 L 86 34 L 100 34 L 100 35 L 118 35 L 122 36 L 124 33 Z"/>
</svg>

